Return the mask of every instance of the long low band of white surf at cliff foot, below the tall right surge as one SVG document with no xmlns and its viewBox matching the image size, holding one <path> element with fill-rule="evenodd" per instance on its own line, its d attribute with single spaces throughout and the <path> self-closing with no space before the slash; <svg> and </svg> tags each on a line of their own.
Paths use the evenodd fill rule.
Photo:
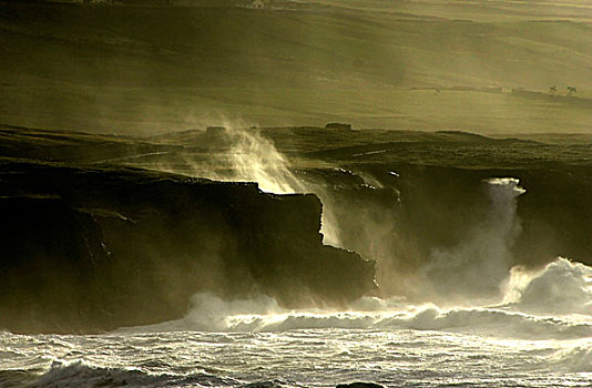
<svg viewBox="0 0 592 388">
<path fill-rule="evenodd" d="M 522 338 L 592 337 L 592 320 L 581 316 L 537 316 L 508 306 L 443 309 L 400 300 L 364 298 L 359 310 L 285 310 L 273 298 L 224 302 L 198 294 L 182 319 L 125 330 L 287 331 L 299 329 L 417 329 L 479 333 Z M 380 310 L 378 307 L 384 306 Z M 368 307 L 368 309 L 364 309 Z"/>
</svg>

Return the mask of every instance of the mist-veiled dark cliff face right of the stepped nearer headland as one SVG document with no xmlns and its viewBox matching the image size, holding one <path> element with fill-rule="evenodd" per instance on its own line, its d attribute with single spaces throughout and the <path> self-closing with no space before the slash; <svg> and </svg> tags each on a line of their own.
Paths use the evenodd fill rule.
<svg viewBox="0 0 592 388">
<path fill-rule="evenodd" d="M 592 170 L 588 166 L 459 169 L 397 162 L 348 169 L 354 173 L 343 176 L 316 171 L 315 180 L 347 182 L 329 185 L 327 194 L 340 242 L 377 259 L 377 279 L 385 295 L 431 300 L 491 296 L 498 295 L 503 276 L 516 265 L 538 268 L 558 256 L 592 264 Z M 371 177 L 375 187 L 361 176 Z M 493 177 L 518 178 L 525 190 L 516 197 L 512 222 L 497 229 L 491 224 L 504 208 L 492 204 L 487 182 Z M 467 262 L 460 265 L 457 258 Z M 435 269 L 441 259 L 447 261 L 446 267 Z M 487 273 L 487 262 L 498 270 L 496 276 Z M 467 274 L 466 284 L 450 280 L 458 273 Z M 426 292 L 426 280 L 438 295 Z"/>
</svg>

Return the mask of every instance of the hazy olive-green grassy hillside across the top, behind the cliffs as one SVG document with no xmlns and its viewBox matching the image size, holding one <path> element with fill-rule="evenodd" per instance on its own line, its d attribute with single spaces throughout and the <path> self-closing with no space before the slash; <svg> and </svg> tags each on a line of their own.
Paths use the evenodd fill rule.
<svg viewBox="0 0 592 388">
<path fill-rule="evenodd" d="M 223 121 L 337 120 L 590 132 L 586 104 L 470 90 L 558 85 L 563 93 L 574 85 L 580 98 L 592 96 L 585 18 L 570 17 L 573 4 L 543 12 L 539 3 L 506 2 L 496 2 L 493 18 L 492 6 L 479 3 L 348 0 L 251 10 L 6 2 L 0 122 L 143 134 Z"/>
</svg>

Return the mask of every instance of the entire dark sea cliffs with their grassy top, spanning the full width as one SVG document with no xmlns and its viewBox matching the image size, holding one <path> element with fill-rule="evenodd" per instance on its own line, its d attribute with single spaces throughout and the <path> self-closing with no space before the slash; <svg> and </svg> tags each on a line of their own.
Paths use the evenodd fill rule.
<svg viewBox="0 0 592 388">
<path fill-rule="evenodd" d="M 171 166 L 193 176 L 195 166 L 217 169 L 208 162 L 232 145 L 222 135 L 188 131 L 150 143 L 0 132 L 6 327 L 67 331 L 161 321 L 182 316 L 201 290 L 267 294 L 308 307 L 343 305 L 374 289 L 372 263 L 321 245 L 316 196 L 140 170 Z M 320 196 L 336 244 L 377 261 L 381 296 L 488 297 L 499 294 L 513 265 L 535 268 L 558 255 L 592 263 L 591 145 L 449 132 L 266 133 L 292 152 L 293 173 Z M 295 156 L 334 137 L 353 145 Z M 390 141 L 364 143 L 371 140 Z M 40 162 L 16 162 L 24 160 Z M 492 177 L 519 178 L 527 192 L 494 207 Z M 507 212 L 512 219 L 496 226 Z"/>
</svg>

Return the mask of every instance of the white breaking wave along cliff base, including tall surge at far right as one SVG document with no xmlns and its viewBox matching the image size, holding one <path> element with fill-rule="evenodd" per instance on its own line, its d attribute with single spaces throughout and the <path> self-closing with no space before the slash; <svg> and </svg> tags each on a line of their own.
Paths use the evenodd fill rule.
<svg viewBox="0 0 592 388">
<path fill-rule="evenodd" d="M 285 331 L 296 329 L 419 329 L 484 333 L 520 338 L 592 337 L 590 280 L 592 268 L 558 258 L 537 273 L 513 268 L 506 303 L 441 308 L 405 299 L 365 297 L 345 310 L 282 308 L 274 298 L 225 302 L 196 294 L 187 315 L 145 330 Z M 570 282 L 565 282 L 565 278 Z M 520 279 L 520 282 L 518 280 Z M 561 287 L 563 293 L 555 293 Z M 510 300 L 513 298 L 513 300 Z M 583 304 L 583 303 L 588 304 Z"/>
</svg>

